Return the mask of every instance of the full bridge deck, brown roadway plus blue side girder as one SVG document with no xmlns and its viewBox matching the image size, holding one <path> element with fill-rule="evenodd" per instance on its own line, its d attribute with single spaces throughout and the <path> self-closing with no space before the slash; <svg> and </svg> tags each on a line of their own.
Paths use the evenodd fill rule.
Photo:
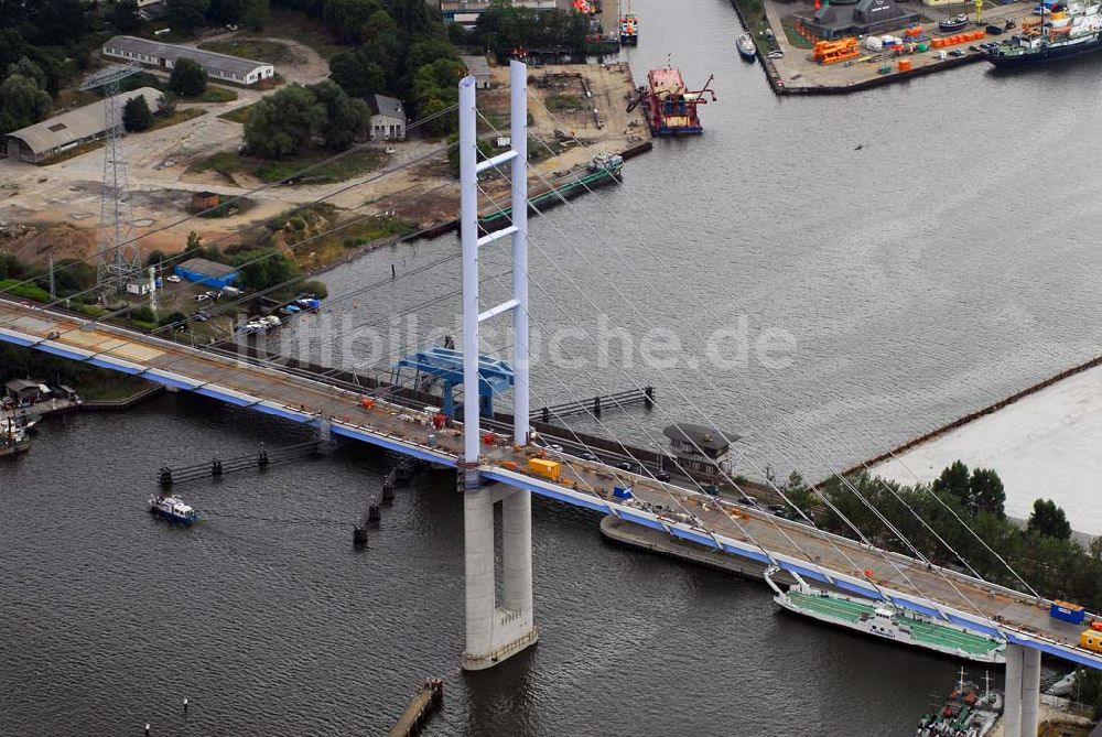
<svg viewBox="0 0 1102 737">
<path fill-rule="evenodd" d="M 48 339 L 55 333 L 58 337 Z M 364 409 L 360 400 L 365 394 L 292 375 L 274 365 L 257 365 L 126 328 L 89 324 L 76 315 L 3 299 L 0 299 L 0 340 L 140 375 L 169 387 L 300 423 L 321 426 L 327 420 L 335 435 L 432 463 L 457 467 L 462 458 L 461 431 L 433 432 L 426 414 L 385 401 L 377 401 L 370 410 Z M 434 445 L 429 443 L 430 433 L 435 435 Z M 523 473 L 528 458 L 540 452 L 537 448 L 517 448 L 504 437 L 498 443 L 484 444 L 483 448 L 480 470 L 489 480 L 615 514 L 758 563 L 777 563 L 789 572 L 846 593 L 880 598 L 869 587 L 871 578 L 897 606 L 1102 669 L 1102 655 L 1078 646 L 1083 626 L 1049 617 L 1048 601 L 953 571 L 927 568 L 907 556 L 882 554 L 809 525 L 599 463 L 570 457 L 563 464 L 560 483 L 555 484 Z M 611 498 L 612 488 L 625 484 L 633 485 L 635 496 L 644 503 L 624 505 Z M 689 516 L 683 516 L 684 512 Z M 763 548 L 769 551 L 768 557 Z M 871 571 L 872 576 L 866 577 L 865 571 Z M 960 594 L 953 590 L 950 581 Z"/>
</svg>

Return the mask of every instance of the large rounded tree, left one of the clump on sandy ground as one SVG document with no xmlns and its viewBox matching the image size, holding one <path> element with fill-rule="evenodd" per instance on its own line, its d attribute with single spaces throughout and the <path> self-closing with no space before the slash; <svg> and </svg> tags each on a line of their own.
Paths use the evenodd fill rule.
<svg viewBox="0 0 1102 737">
<path fill-rule="evenodd" d="M 302 151 L 325 121 L 325 106 L 305 87 L 291 85 L 252 106 L 245 143 L 257 156 L 287 159 Z"/>
</svg>

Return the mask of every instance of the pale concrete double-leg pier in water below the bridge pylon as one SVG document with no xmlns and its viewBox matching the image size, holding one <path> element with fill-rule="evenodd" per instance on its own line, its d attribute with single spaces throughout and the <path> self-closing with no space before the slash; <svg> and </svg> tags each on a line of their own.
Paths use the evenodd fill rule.
<svg viewBox="0 0 1102 737">
<path fill-rule="evenodd" d="M 466 648 L 463 668 L 493 668 L 539 639 L 532 616 L 530 492 L 495 485 L 463 497 Z M 495 578 L 494 505 L 501 503 L 501 606 Z"/>
</svg>

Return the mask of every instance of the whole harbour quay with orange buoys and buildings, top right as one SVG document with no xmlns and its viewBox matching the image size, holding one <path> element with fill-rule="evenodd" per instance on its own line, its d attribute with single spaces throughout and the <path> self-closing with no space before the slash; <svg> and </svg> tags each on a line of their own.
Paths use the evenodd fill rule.
<svg viewBox="0 0 1102 737">
<path fill-rule="evenodd" d="M 975 3 L 912 0 L 732 4 L 777 95 L 844 95 L 985 63 L 982 44 L 1007 41 L 1037 18 L 1033 2 L 983 4 L 979 15 Z"/>
</svg>

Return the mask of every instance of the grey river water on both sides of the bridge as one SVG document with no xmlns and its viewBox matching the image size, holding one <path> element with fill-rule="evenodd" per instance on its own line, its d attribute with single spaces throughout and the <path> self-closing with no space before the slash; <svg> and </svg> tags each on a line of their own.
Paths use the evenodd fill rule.
<svg viewBox="0 0 1102 737">
<path fill-rule="evenodd" d="M 669 53 L 691 84 L 714 73 L 720 99 L 702 138 L 657 141 L 623 187 L 533 221 L 533 332 L 594 330 L 603 313 L 633 343 L 668 327 L 681 350 L 620 371 L 568 336 L 533 369 L 533 403 L 655 384 L 669 415 L 609 413 L 609 432 L 646 444 L 671 419 L 709 416 L 745 436 L 748 474 L 815 475 L 1098 353 L 1102 59 L 778 99 L 734 52 L 725 1 L 633 6 L 636 78 Z M 454 260 L 336 300 L 455 251 L 442 239 L 342 267 L 332 311 L 289 339 L 322 354 L 344 326 L 425 302 L 422 333 L 453 325 L 457 301 L 439 297 L 458 286 Z M 485 259 L 485 273 L 504 268 Z M 491 304 L 503 290 L 487 291 Z M 750 354 L 767 330 L 790 349 L 769 366 L 701 360 L 717 326 L 734 330 L 720 348 L 737 348 L 741 316 Z M 421 343 L 372 356 L 359 337 L 328 357 L 380 368 Z M 356 553 L 350 522 L 388 463 L 360 446 L 191 485 L 206 517 L 192 530 L 143 512 L 162 464 L 300 440 L 165 395 L 53 420 L 0 466 L 0 734 L 378 734 L 440 674 L 434 735 L 897 735 L 954 679 L 951 662 L 781 616 L 760 585 L 609 546 L 596 518 L 539 500 L 541 642 L 462 674 L 451 479 L 401 490 Z"/>
</svg>

